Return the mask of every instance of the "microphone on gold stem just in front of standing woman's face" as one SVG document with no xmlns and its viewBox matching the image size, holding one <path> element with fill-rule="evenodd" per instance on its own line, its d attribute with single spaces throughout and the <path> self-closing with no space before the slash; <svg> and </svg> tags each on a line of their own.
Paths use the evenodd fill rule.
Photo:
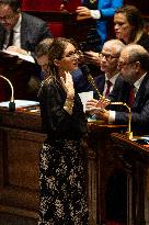
<svg viewBox="0 0 149 225">
<path fill-rule="evenodd" d="M 93 89 L 96 91 L 98 95 L 102 99 L 105 99 L 99 91 L 98 87 L 96 87 L 96 83 L 93 79 L 93 77 L 91 76 L 90 74 L 90 68 L 84 64 L 81 66 L 81 70 L 82 70 L 82 74 L 88 78 L 89 82 L 91 83 L 91 86 L 93 87 Z"/>
</svg>

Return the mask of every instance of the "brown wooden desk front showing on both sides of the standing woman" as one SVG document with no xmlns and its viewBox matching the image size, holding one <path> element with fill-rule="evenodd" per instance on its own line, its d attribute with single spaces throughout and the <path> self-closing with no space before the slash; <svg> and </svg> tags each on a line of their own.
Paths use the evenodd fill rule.
<svg viewBox="0 0 149 225">
<path fill-rule="evenodd" d="M 90 224 L 105 221 L 105 187 L 114 165 L 111 133 L 124 126 L 89 123 Z M 39 114 L 0 109 L 0 224 L 37 225 Z"/>
</svg>

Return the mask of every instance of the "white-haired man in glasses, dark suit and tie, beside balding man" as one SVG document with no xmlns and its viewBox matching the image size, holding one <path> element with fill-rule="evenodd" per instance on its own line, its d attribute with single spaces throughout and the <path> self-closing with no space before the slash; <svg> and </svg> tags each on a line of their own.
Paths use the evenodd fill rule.
<svg viewBox="0 0 149 225">
<path fill-rule="evenodd" d="M 110 40 L 104 43 L 100 54 L 101 71 L 104 72 L 94 78 L 98 90 L 104 97 L 108 97 L 116 82 L 119 82 L 119 70 L 117 68 L 118 58 L 124 44 L 118 40 Z M 82 75 L 83 77 L 83 75 Z M 85 79 L 85 78 L 83 78 Z M 82 81 L 83 82 L 83 81 Z M 85 81 L 84 81 L 85 82 Z M 91 85 L 84 91 L 93 90 Z M 98 93 L 94 91 L 94 98 L 99 99 Z"/>
</svg>

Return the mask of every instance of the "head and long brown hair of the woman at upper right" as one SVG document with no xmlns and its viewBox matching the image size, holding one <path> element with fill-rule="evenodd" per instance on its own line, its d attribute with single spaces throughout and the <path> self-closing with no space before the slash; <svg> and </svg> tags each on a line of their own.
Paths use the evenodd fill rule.
<svg viewBox="0 0 149 225">
<path fill-rule="evenodd" d="M 135 5 L 126 4 L 116 10 L 114 31 L 125 44 L 136 43 L 149 50 L 149 35 L 144 30 L 141 13 Z"/>
</svg>

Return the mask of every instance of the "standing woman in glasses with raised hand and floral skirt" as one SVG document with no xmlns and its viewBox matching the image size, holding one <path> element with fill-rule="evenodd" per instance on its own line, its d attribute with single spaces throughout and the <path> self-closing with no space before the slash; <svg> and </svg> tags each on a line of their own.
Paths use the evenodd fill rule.
<svg viewBox="0 0 149 225">
<path fill-rule="evenodd" d="M 71 70 L 78 52 L 58 37 L 49 48 L 50 76 L 39 90 L 41 115 L 47 139 L 41 151 L 41 215 L 38 225 L 88 225 L 87 117 L 73 89 Z"/>
</svg>

